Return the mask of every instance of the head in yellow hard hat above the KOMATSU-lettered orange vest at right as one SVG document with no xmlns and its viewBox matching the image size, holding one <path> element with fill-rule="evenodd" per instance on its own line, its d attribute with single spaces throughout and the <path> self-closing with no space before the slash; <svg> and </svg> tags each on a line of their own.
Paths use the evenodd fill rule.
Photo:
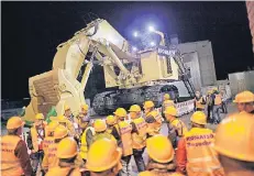
<svg viewBox="0 0 254 176">
<path fill-rule="evenodd" d="M 192 128 L 205 128 L 207 124 L 207 117 L 202 111 L 196 111 L 190 118 Z"/>
</svg>

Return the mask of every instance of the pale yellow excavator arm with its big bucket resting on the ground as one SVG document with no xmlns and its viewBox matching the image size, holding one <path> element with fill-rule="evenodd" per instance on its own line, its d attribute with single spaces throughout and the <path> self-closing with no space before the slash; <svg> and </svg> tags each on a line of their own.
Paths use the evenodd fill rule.
<svg viewBox="0 0 254 176">
<path fill-rule="evenodd" d="M 110 38 L 111 36 L 114 37 Z M 124 54 L 122 58 L 132 58 L 126 54 L 126 43 L 107 21 L 99 19 L 58 45 L 52 70 L 29 79 L 31 102 L 25 109 L 24 119 L 34 121 L 36 113 L 46 114 L 53 106 L 57 114 L 63 114 L 65 105 L 70 107 L 75 116 L 78 114 L 80 106 L 85 103 L 84 90 L 95 58 L 119 84 L 135 82 L 135 78 L 118 56 L 119 53 Z M 119 67 L 121 76 L 115 75 L 112 65 Z M 84 66 L 85 70 L 81 73 Z M 81 77 L 81 80 L 78 80 L 78 77 Z"/>
</svg>

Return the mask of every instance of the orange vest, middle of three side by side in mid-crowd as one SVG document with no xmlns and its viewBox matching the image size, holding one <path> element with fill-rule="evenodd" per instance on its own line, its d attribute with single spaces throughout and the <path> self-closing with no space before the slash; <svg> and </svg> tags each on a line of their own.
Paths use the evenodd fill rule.
<svg viewBox="0 0 254 176">
<path fill-rule="evenodd" d="M 141 117 L 132 121 L 137 130 L 137 133 L 132 133 L 132 147 L 141 150 L 145 146 L 147 123 Z"/>
</svg>

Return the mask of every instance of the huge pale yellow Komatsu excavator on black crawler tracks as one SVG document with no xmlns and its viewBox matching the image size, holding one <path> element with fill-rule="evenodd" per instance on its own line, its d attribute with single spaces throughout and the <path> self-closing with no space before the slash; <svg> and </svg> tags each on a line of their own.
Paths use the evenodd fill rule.
<svg viewBox="0 0 254 176">
<path fill-rule="evenodd" d="M 189 85 L 189 92 L 194 96 L 179 62 L 180 53 L 166 45 L 163 35 L 159 46 L 161 51 L 154 46 L 133 52 L 129 42 L 106 20 L 91 21 L 57 46 L 52 70 L 29 79 L 31 102 L 24 119 L 33 121 L 37 112 L 46 114 L 53 106 L 57 114 L 63 114 L 65 105 L 70 107 L 74 116 L 78 114 L 85 103 L 84 90 L 95 64 L 103 67 L 101 77 L 104 76 L 106 88 L 118 88 L 96 95 L 92 108 L 99 114 L 117 107 L 142 105 L 148 99 L 159 106 L 165 92 L 175 99 L 177 88 L 168 82 L 179 79 Z"/>
</svg>

